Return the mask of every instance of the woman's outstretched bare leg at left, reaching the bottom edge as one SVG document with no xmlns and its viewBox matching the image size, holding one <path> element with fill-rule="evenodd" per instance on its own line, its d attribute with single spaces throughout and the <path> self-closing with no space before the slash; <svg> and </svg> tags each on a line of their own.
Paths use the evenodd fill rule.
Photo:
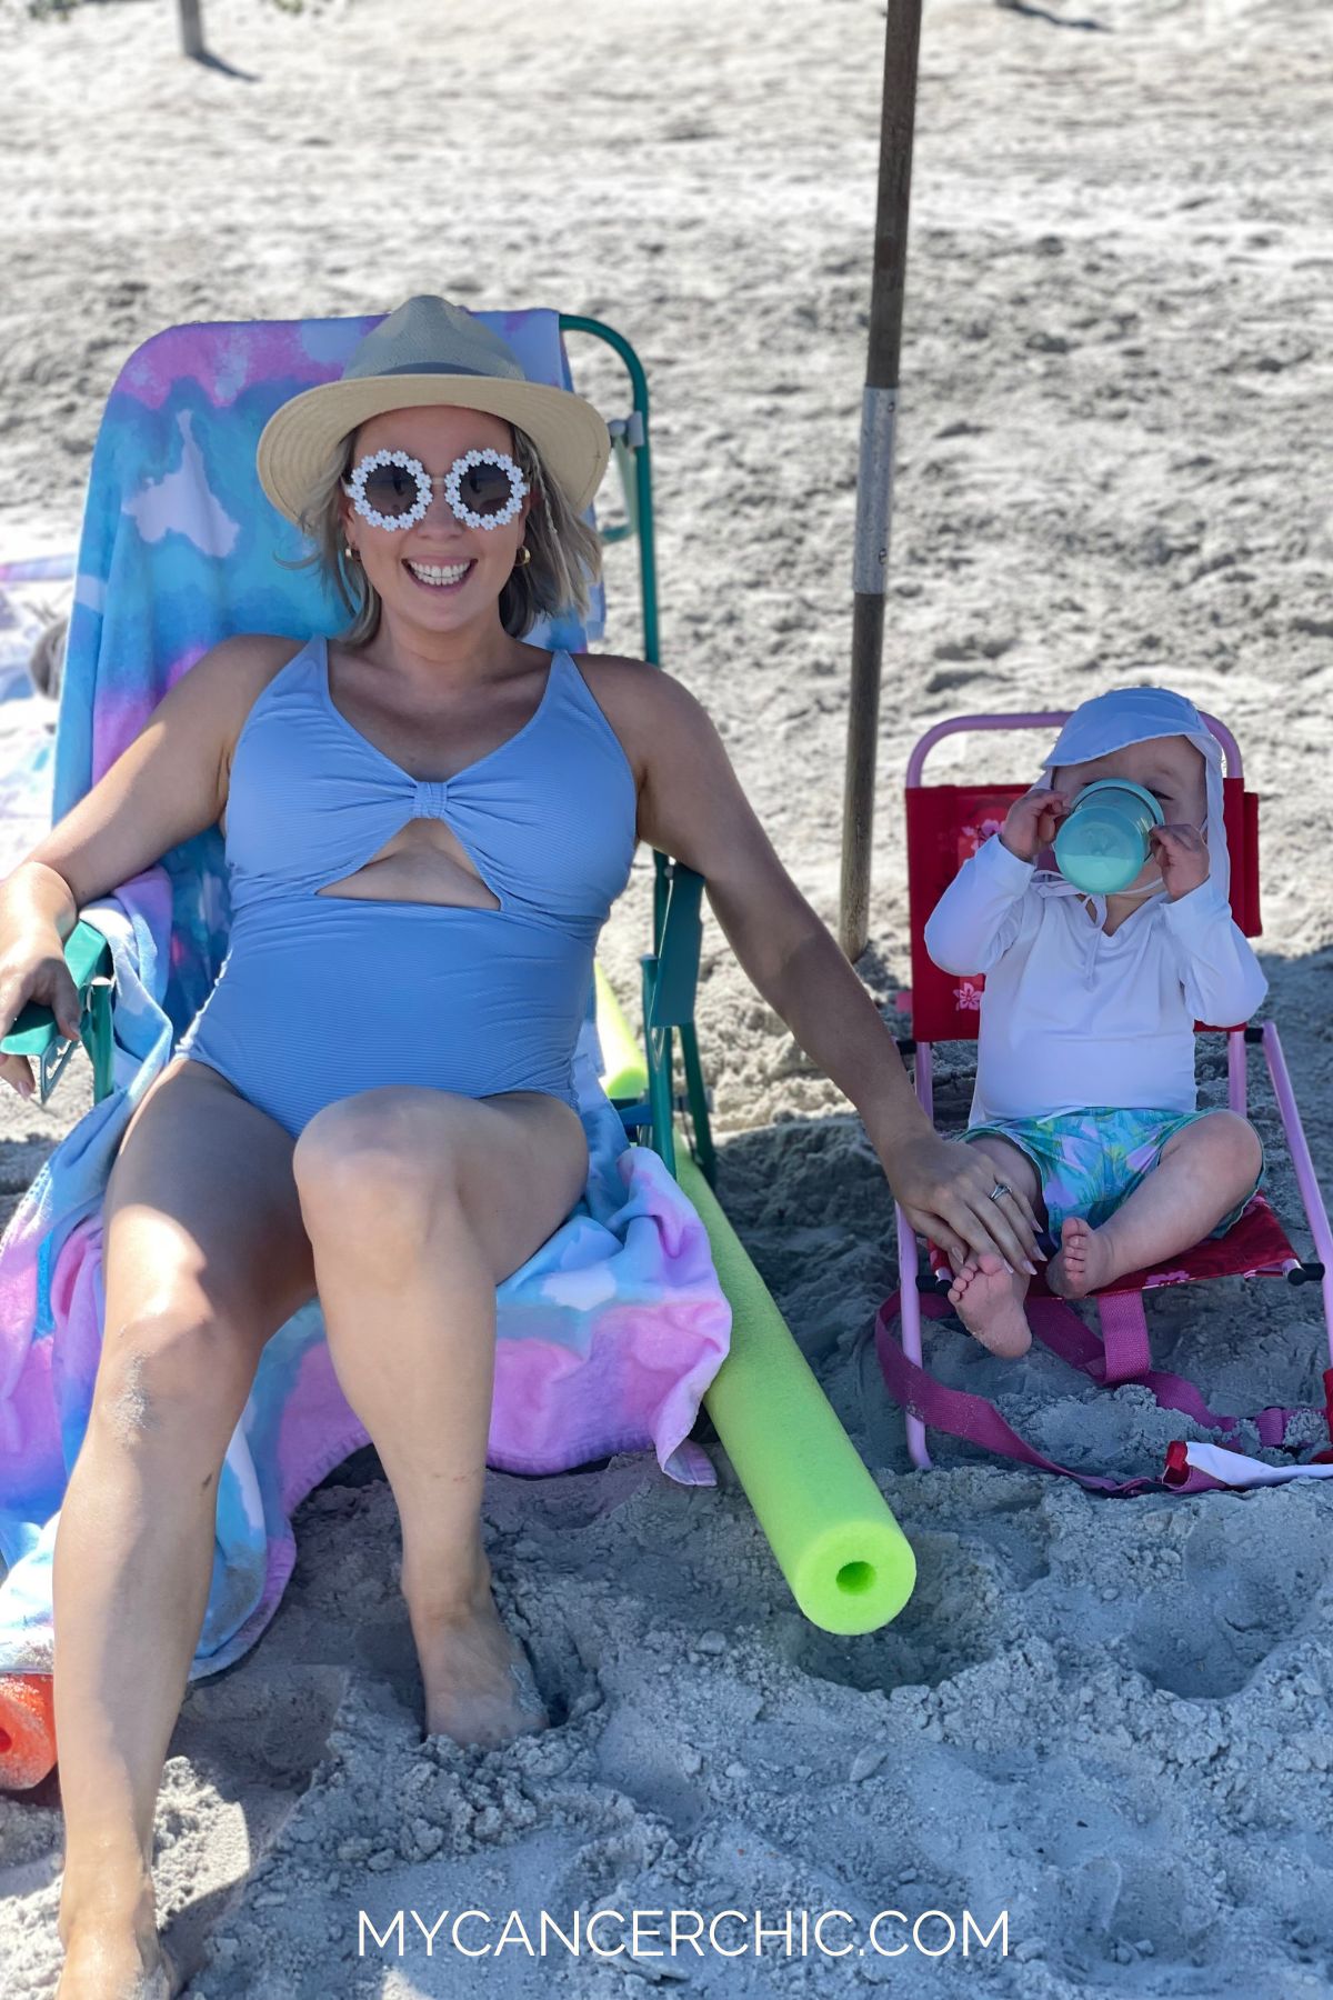
<svg viewBox="0 0 1333 2000">
<path fill-rule="evenodd" d="M 126 1130 L 104 1228 L 102 1358 L 54 1554 L 58 2000 L 166 2000 L 152 1824 L 218 1472 L 264 1342 L 314 1292 L 292 1140 L 216 1072 L 170 1064 Z"/>
</svg>

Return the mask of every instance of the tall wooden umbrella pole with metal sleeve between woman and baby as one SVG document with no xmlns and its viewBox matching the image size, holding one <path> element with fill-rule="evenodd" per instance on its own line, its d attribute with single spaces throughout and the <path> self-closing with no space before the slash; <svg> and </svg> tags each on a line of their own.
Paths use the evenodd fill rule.
<svg viewBox="0 0 1333 2000">
<path fill-rule="evenodd" d="M 869 850 L 875 826 L 875 748 L 883 658 L 883 582 L 893 510 L 893 420 L 907 278 L 907 202 L 917 96 L 921 0 L 887 0 L 875 266 L 869 288 L 869 356 L 861 398 L 855 496 L 851 706 L 843 786 L 841 948 L 853 962 L 869 936 Z"/>
</svg>

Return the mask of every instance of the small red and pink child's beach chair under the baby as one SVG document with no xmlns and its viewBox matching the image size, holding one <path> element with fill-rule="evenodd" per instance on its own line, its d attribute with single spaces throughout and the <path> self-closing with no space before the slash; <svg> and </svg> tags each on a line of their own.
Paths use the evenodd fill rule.
<svg viewBox="0 0 1333 2000">
<path fill-rule="evenodd" d="M 947 736 L 971 730 L 1041 728 L 1049 734 L 1067 722 L 1065 712 L 1049 714 L 981 714 L 955 716 L 937 722 L 915 744 L 907 762 L 907 888 L 911 924 L 911 990 L 899 996 L 907 1014 L 907 1036 L 899 1040 L 915 1072 L 915 1092 L 921 1108 L 933 1118 L 931 1056 L 935 1042 L 975 1040 L 985 978 L 957 978 L 941 972 L 925 952 L 925 922 L 941 894 L 977 846 L 999 830 L 1003 818 L 1027 784 L 925 784 L 923 770 L 929 752 Z M 1241 752 L 1231 732 L 1213 716 L 1205 716 L 1225 754 L 1223 810 L 1227 850 L 1231 856 L 1231 910 L 1247 936 L 1259 936 L 1259 800 L 1245 790 Z M 1209 1028 L 1205 1022 L 1197 1030 Z M 1293 1250 L 1269 1202 L 1255 1194 L 1241 1218 L 1219 1240 L 1209 1240 L 1171 1258 L 1153 1270 L 1129 1272 L 1115 1284 L 1091 1296 L 1099 1318 L 1097 1338 L 1063 1298 L 1053 1296 L 1037 1276 L 1027 1294 L 1031 1332 L 1051 1352 L 1093 1382 L 1107 1388 L 1133 1382 L 1147 1388 L 1163 1408 L 1181 1410 L 1195 1422 L 1229 1434 L 1237 1418 L 1209 1410 L 1199 1390 L 1181 1376 L 1153 1368 L 1145 1296 L 1159 1286 L 1187 1284 L 1201 1278 L 1245 1276 L 1283 1278 L 1289 1284 L 1319 1284 L 1327 1332 L 1329 1368 L 1323 1372 L 1325 1402 L 1319 1416 L 1333 1438 L 1333 1238 L 1329 1218 L 1315 1178 L 1315 1168 L 1301 1128 L 1287 1062 L 1277 1024 L 1215 1022 L 1211 1030 L 1227 1034 L 1227 1100 L 1231 1110 L 1245 1112 L 1247 1052 L 1261 1048 L 1273 1084 L 1283 1132 L 1295 1164 L 1305 1220 L 1313 1240 L 1313 1256 Z M 1023 1464 L 1049 1472 L 1065 1472 L 1097 1492 L 1129 1494 L 1153 1486 L 1175 1492 L 1195 1492 L 1209 1486 L 1247 1484 L 1267 1474 L 1267 1466 L 1201 1446 L 1175 1440 L 1159 1476 L 1143 1476 L 1117 1484 L 1115 1480 L 1069 1472 L 1033 1450 L 983 1396 L 949 1388 L 935 1380 L 921 1358 L 921 1320 L 941 1320 L 951 1314 L 947 1302 L 949 1266 L 937 1246 L 927 1246 L 927 1270 L 919 1270 L 917 1238 L 901 1208 L 897 1210 L 899 1290 L 879 1308 L 875 1318 L 875 1348 L 889 1394 L 905 1410 L 907 1450 L 913 1466 L 931 1464 L 925 1428 L 945 1432 L 1001 1452 Z M 901 1340 L 897 1326 L 901 1322 Z M 1265 1446 L 1281 1446 L 1287 1424 L 1305 1410 L 1269 1408 L 1253 1420 Z M 1245 1468 L 1257 1472 L 1245 1474 Z M 1309 1470 L 1309 1466 L 1305 1468 Z M 1221 1474 L 1221 1476 L 1219 1476 Z M 1283 1474 L 1277 1474 L 1283 1476 Z"/>
</svg>

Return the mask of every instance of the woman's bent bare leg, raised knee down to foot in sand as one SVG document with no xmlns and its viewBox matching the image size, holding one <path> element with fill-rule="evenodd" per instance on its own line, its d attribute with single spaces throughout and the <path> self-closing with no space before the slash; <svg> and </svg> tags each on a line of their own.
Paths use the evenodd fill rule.
<svg viewBox="0 0 1333 2000">
<path fill-rule="evenodd" d="M 496 1286 L 584 1192 L 582 1120 L 538 1092 L 368 1090 L 306 1126 L 294 1170 L 334 1368 L 402 1516 L 426 1732 L 498 1744 L 544 1728 L 480 1508 Z"/>
</svg>

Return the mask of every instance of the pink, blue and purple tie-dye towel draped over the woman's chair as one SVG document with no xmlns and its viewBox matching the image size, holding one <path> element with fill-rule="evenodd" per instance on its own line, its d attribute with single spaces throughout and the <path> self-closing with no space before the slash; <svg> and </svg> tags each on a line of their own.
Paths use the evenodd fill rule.
<svg viewBox="0 0 1333 2000">
<path fill-rule="evenodd" d="M 480 314 L 534 380 L 572 386 L 558 314 Z M 264 498 L 254 448 L 298 390 L 332 380 L 378 322 L 172 328 L 124 366 L 98 436 L 56 740 L 60 818 L 134 740 L 162 694 L 220 638 L 306 638 L 346 624 L 306 546 Z M 602 632 L 556 618 L 528 634 L 580 650 Z M 52 1670 L 52 1550 L 84 1438 L 102 1340 L 106 1178 L 120 1136 L 202 1006 L 228 944 L 218 828 L 82 912 L 116 962 L 114 1090 L 54 1150 L 0 1240 L 0 1672 Z M 703 1226 L 598 1078 L 594 998 L 576 1082 L 590 1142 L 584 1200 L 498 1288 L 490 1464 L 564 1472 L 654 1450 L 713 1484 L 691 1444 L 731 1312 Z M 334 1376 L 318 1302 L 266 1346 L 218 1490 L 212 1592 L 190 1678 L 240 1658 L 292 1572 L 290 1514 L 366 1442 Z"/>
</svg>

